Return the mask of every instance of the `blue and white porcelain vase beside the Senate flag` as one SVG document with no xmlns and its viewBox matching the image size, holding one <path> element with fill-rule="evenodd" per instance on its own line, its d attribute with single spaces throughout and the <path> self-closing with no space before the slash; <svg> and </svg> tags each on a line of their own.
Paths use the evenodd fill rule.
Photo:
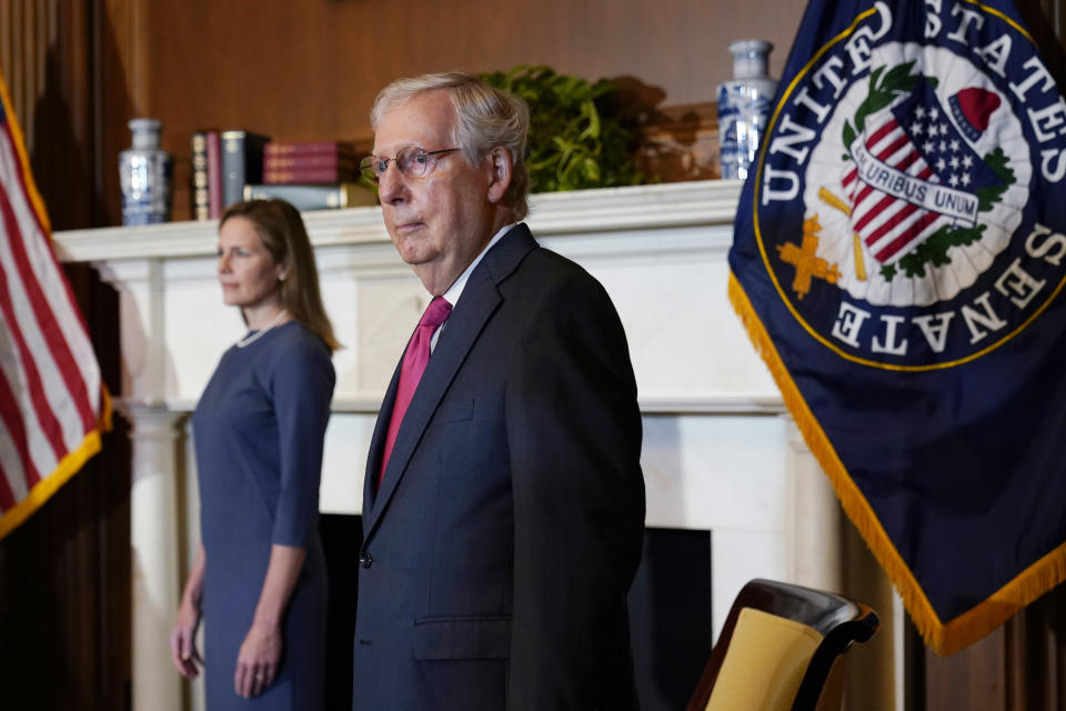
<svg viewBox="0 0 1066 711">
<path fill-rule="evenodd" d="M 777 82 L 766 74 L 773 44 L 765 40 L 740 40 L 730 44 L 733 79 L 718 84 L 718 144 L 722 177 L 747 178 L 766 132 Z"/>
</svg>

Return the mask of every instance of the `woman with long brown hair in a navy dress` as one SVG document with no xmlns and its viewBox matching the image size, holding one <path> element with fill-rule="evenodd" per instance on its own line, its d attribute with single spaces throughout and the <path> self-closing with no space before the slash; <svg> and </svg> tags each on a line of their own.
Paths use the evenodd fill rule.
<svg viewBox="0 0 1066 711">
<path fill-rule="evenodd" d="M 319 479 L 339 346 L 306 230 L 289 203 L 230 207 L 219 222 L 218 271 L 225 303 L 240 307 L 250 331 L 222 356 L 192 418 L 202 543 L 171 653 L 188 678 L 203 665 L 209 711 L 319 711 Z"/>
</svg>

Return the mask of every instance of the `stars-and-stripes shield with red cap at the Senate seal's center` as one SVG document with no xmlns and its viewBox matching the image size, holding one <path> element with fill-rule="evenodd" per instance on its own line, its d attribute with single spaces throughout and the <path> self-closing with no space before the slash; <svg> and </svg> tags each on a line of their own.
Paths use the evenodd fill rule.
<svg viewBox="0 0 1066 711">
<path fill-rule="evenodd" d="M 933 87 L 919 80 L 907 99 L 868 117 L 848 147 L 855 166 L 843 186 L 852 226 L 882 264 L 897 262 L 945 224 L 974 227 L 975 191 L 1000 182 L 962 133 L 979 136 L 971 121 L 987 126 L 997 97 L 966 89 L 952 107 L 945 111 Z"/>
</svg>

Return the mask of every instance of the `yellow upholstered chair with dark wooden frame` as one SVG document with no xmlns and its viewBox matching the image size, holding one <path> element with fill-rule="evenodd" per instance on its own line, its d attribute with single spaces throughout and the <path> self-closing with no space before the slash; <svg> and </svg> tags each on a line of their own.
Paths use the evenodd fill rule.
<svg viewBox="0 0 1066 711">
<path fill-rule="evenodd" d="M 835 662 L 877 625 L 871 608 L 842 595 L 753 580 L 736 595 L 687 711 L 839 709 Z"/>
</svg>

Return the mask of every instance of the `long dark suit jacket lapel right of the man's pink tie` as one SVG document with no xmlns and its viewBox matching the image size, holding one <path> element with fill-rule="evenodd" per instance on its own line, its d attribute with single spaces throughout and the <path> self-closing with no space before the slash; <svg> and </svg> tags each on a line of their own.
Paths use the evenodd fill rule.
<svg viewBox="0 0 1066 711">
<path fill-rule="evenodd" d="M 372 478 L 376 478 L 375 463 L 380 467 L 381 462 L 384 432 L 389 425 L 389 417 L 392 414 L 392 402 L 395 400 L 399 367 L 396 372 L 393 373 L 392 383 L 389 385 L 385 401 L 382 403 L 381 414 L 378 417 L 378 424 L 374 429 L 368 458 L 363 493 L 363 501 L 370 502 L 369 507 L 363 507 L 363 531 L 368 539 L 376 529 L 382 513 L 389 507 L 393 492 L 403 479 L 408 462 L 422 439 L 430 418 L 436 411 L 436 407 L 466 359 L 470 349 L 473 348 L 477 336 L 503 300 L 496 284 L 514 271 L 522 258 L 535 247 L 536 242 L 530 234 L 529 228 L 525 224 L 519 224 L 489 250 L 481 263 L 471 273 L 462 297 L 455 306 L 455 310 L 452 311 L 446 327 L 441 332 L 436 348 L 433 349 L 433 356 L 430 358 L 430 363 L 414 391 L 414 397 L 411 398 L 411 404 L 408 405 L 408 412 L 400 425 L 400 431 L 396 433 L 396 441 L 389 458 L 389 467 L 385 470 L 381 490 L 374 495 L 371 491 L 373 489 Z"/>
</svg>

